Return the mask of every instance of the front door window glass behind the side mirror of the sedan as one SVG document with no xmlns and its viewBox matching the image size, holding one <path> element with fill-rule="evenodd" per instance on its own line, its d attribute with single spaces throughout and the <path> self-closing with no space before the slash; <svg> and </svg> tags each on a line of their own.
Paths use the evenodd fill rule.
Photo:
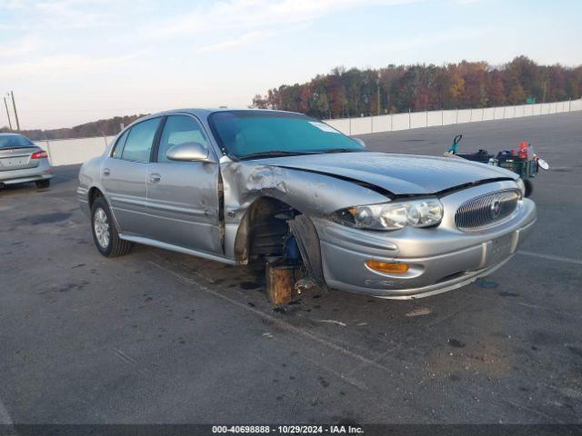
<svg viewBox="0 0 582 436">
<path fill-rule="evenodd" d="M 172 162 L 166 157 L 167 151 L 174 145 L 188 143 L 198 143 L 208 148 L 208 140 L 202 126 L 187 115 L 168 116 L 157 150 L 157 162 Z"/>
</svg>

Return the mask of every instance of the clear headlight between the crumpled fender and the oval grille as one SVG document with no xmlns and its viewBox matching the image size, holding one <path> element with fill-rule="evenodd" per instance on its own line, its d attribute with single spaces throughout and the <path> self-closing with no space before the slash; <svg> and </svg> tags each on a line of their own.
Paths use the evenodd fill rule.
<svg viewBox="0 0 582 436">
<path fill-rule="evenodd" d="M 397 230 L 406 225 L 431 227 L 443 219 L 443 204 L 437 198 L 405 202 L 355 206 L 336 213 L 336 217 L 352 227 L 372 230 Z"/>
</svg>

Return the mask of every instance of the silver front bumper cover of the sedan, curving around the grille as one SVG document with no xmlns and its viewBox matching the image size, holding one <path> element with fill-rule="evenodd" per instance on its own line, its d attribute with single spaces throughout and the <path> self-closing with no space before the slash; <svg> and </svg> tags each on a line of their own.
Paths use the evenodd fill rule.
<svg viewBox="0 0 582 436">
<path fill-rule="evenodd" d="M 430 229 L 370 232 L 314 220 L 326 284 L 348 292 L 411 299 L 460 288 L 497 270 L 531 232 L 536 205 L 525 199 L 505 223 L 480 232 L 459 231 L 454 223 L 457 205 L 485 192 L 491 192 L 490 185 L 442 198 L 443 222 Z M 366 266 L 368 260 L 410 267 L 404 274 L 377 272 Z"/>
</svg>

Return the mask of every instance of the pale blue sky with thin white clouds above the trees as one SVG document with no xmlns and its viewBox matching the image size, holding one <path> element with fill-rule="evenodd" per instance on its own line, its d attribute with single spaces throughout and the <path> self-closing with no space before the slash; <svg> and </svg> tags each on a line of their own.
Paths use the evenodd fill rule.
<svg viewBox="0 0 582 436">
<path fill-rule="evenodd" d="M 0 0 L 0 93 L 22 128 L 55 128 L 245 107 L 337 65 L 575 65 L 580 16 L 580 0 Z"/>
</svg>

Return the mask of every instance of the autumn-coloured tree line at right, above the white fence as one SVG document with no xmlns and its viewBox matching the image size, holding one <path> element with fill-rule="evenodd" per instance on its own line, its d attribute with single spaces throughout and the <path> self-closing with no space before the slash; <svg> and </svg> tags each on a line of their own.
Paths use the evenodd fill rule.
<svg viewBox="0 0 582 436">
<path fill-rule="evenodd" d="M 526 56 L 507 64 L 467 62 L 337 67 L 305 84 L 283 84 L 257 94 L 253 106 L 346 118 L 440 109 L 546 103 L 579 98 L 582 65 L 540 65 Z"/>
</svg>

